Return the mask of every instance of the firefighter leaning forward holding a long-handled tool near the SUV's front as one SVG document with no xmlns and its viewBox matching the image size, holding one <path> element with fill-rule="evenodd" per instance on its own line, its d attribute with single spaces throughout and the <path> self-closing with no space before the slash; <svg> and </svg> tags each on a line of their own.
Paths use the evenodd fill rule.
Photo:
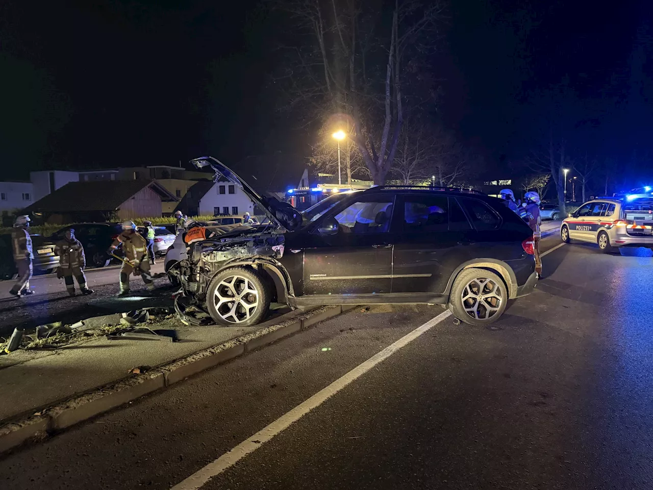
<svg viewBox="0 0 653 490">
<path fill-rule="evenodd" d="M 140 274 L 148 290 L 153 291 L 154 282 L 150 274 L 150 261 L 148 261 L 145 238 L 136 233 L 134 221 L 125 221 L 122 224 L 122 229 L 123 232 L 116 237 L 109 250 L 106 251 L 108 255 L 111 255 L 118 245 L 122 244 L 123 252 L 125 252 L 125 261 L 120 269 L 120 292 L 118 295 L 127 296 L 129 294 L 129 274 L 132 272 L 135 276 Z"/>
</svg>

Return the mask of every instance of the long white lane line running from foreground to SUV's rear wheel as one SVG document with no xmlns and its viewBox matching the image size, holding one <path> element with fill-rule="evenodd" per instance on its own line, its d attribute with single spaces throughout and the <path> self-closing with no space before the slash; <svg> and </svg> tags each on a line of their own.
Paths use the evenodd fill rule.
<svg viewBox="0 0 653 490">
<path fill-rule="evenodd" d="M 358 365 L 358 367 L 353 368 L 351 371 L 347 372 L 344 376 L 341 378 L 338 378 L 338 380 L 334 381 L 332 384 L 328 385 L 326 388 L 322 389 L 321 391 L 318 391 L 310 397 L 310 399 L 306 400 L 305 402 L 302 402 L 298 404 L 295 408 L 290 410 L 290 412 L 286 412 L 283 414 L 281 417 L 276 419 L 274 422 L 272 422 L 270 425 L 265 427 L 264 429 L 261 429 L 261 431 L 257 432 L 253 436 L 247 438 L 247 440 L 241 442 L 236 446 L 235 448 L 231 449 L 231 451 L 221 455 L 218 459 L 216 459 L 213 463 L 209 463 L 208 465 L 204 466 L 204 468 L 201 468 L 185 480 L 183 482 L 178 483 L 177 485 L 174 485 L 172 487 L 172 490 L 198 490 L 202 486 L 204 486 L 211 478 L 214 476 L 219 475 L 223 471 L 227 470 L 230 466 L 235 465 L 246 457 L 249 453 L 252 453 L 253 451 L 256 451 L 259 449 L 263 444 L 271 440 L 274 436 L 277 434 L 281 433 L 283 429 L 287 429 L 291 423 L 297 421 L 300 419 L 302 416 L 308 414 L 313 408 L 317 408 L 320 406 L 325 400 L 327 400 L 329 397 L 332 397 L 338 391 L 343 389 L 345 386 L 368 372 L 370 369 L 375 367 L 378 363 L 381 361 L 387 359 L 390 357 L 390 355 L 394 354 L 396 351 L 400 350 L 402 347 L 405 347 L 407 344 L 415 340 L 415 338 L 419 337 L 422 335 L 422 333 L 428 331 L 429 329 L 432 329 L 435 325 L 437 325 L 439 322 L 443 321 L 443 319 L 447 318 L 448 316 L 451 315 L 451 312 L 449 310 L 439 314 L 435 318 L 430 319 L 424 325 L 421 327 L 418 327 L 417 329 L 413 330 L 411 333 L 408 333 L 404 335 L 402 338 L 394 342 L 394 344 L 387 346 L 385 349 L 383 349 L 380 352 L 375 353 L 370 359 L 362 363 L 361 365 Z"/>
</svg>

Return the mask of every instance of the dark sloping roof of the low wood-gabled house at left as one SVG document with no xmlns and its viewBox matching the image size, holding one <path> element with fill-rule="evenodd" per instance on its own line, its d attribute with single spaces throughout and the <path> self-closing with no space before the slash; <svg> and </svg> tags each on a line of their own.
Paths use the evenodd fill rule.
<svg viewBox="0 0 653 490">
<path fill-rule="evenodd" d="M 27 212 L 113 211 L 141 191 L 150 187 L 163 201 L 177 201 L 156 180 L 96 180 L 69 182 L 27 207 Z"/>
</svg>

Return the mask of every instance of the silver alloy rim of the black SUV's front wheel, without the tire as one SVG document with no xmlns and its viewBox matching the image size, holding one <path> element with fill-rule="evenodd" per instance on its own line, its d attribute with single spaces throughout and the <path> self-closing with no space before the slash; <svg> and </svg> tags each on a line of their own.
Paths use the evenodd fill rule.
<svg viewBox="0 0 653 490">
<path fill-rule="evenodd" d="M 229 323 L 242 323 L 259 306 L 259 291 L 246 277 L 229 276 L 215 288 L 214 304 L 220 318 Z"/>
</svg>

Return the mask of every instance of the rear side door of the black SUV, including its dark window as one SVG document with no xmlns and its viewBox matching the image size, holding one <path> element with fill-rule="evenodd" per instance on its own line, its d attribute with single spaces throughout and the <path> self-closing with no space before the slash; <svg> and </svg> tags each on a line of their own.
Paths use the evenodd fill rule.
<svg viewBox="0 0 653 490">
<path fill-rule="evenodd" d="M 392 293 L 444 293 L 470 242 L 469 221 L 445 195 L 400 195 L 395 209 L 402 235 L 392 252 Z"/>
</svg>

